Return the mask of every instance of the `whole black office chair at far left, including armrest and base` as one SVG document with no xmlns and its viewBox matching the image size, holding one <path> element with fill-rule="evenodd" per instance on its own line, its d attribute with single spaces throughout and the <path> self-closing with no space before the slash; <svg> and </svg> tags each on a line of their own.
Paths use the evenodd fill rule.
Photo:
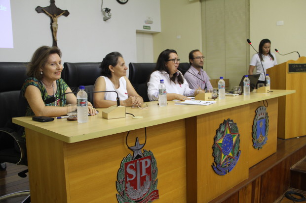
<svg viewBox="0 0 306 203">
<path fill-rule="evenodd" d="M 21 62 L 0 62 L 0 169 L 6 164 L 27 165 L 23 128 L 12 123 L 12 117 L 19 114 L 20 89 L 26 76 L 26 64 Z M 27 170 L 18 175 L 25 177 Z M 22 203 L 30 203 L 30 191 L 19 191 L 0 197 L 0 201 L 12 197 L 27 196 Z"/>
</svg>

